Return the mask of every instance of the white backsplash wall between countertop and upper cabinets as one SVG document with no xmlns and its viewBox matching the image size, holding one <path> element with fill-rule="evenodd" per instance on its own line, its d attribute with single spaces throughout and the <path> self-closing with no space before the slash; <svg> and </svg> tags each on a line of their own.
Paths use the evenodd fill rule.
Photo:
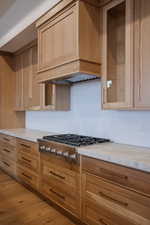
<svg viewBox="0 0 150 225">
<path fill-rule="evenodd" d="M 150 112 L 104 111 L 101 84 L 90 81 L 71 88 L 71 111 L 27 112 L 26 127 L 109 138 L 124 144 L 150 147 Z"/>
</svg>

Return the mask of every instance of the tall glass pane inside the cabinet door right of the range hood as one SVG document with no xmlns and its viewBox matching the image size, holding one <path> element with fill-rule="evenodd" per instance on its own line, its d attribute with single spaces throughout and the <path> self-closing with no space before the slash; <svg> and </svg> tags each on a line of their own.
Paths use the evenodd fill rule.
<svg viewBox="0 0 150 225">
<path fill-rule="evenodd" d="M 107 102 L 125 101 L 126 3 L 107 11 Z"/>
</svg>

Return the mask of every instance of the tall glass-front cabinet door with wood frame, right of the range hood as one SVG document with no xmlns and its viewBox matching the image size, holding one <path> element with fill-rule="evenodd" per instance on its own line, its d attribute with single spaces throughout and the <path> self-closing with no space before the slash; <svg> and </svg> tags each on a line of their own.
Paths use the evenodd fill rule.
<svg viewBox="0 0 150 225">
<path fill-rule="evenodd" d="M 104 109 L 133 106 L 133 2 L 114 0 L 102 9 Z"/>
</svg>

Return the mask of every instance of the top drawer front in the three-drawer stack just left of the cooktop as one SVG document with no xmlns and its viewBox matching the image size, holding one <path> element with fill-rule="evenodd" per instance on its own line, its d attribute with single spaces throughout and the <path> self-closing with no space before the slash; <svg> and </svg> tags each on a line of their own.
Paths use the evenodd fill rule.
<svg viewBox="0 0 150 225">
<path fill-rule="evenodd" d="M 18 152 L 23 152 L 23 153 L 39 156 L 37 143 L 25 141 L 22 139 L 17 139 L 17 150 Z"/>
</svg>

